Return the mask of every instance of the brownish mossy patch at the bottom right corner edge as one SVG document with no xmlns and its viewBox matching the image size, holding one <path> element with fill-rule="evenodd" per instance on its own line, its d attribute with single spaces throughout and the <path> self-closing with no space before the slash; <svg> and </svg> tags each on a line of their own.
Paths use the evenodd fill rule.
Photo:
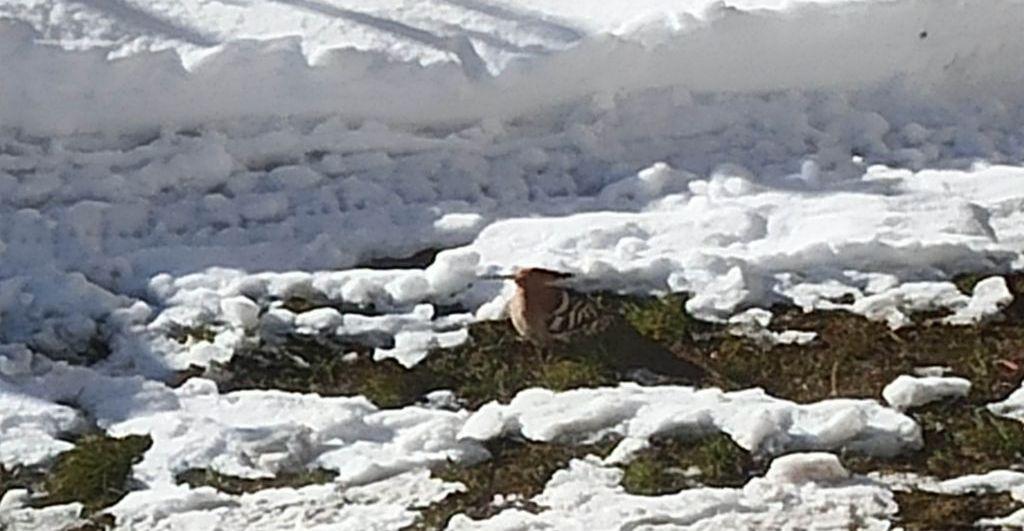
<svg viewBox="0 0 1024 531">
<path fill-rule="evenodd" d="M 978 520 L 1006 516 L 1018 505 L 1007 493 L 953 496 L 914 490 L 895 495 L 895 523 L 906 531 L 976 530 Z"/>
</svg>

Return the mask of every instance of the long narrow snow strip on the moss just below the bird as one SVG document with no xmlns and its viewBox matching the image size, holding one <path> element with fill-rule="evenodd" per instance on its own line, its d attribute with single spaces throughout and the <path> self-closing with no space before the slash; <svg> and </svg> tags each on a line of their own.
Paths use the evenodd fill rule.
<svg viewBox="0 0 1024 531">
<path fill-rule="evenodd" d="M 459 432 L 462 439 L 515 435 L 535 441 L 625 437 L 610 462 L 626 461 L 656 435 L 698 437 L 728 434 L 752 452 L 849 448 L 895 455 L 922 445 L 910 417 L 873 400 L 836 399 L 796 404 L 760 389 L 724 393 L 718 389 L 640 387 L 578 389 L 555 393 L 520 392 L 509 404 L 480 407 Z"/>
</svg>

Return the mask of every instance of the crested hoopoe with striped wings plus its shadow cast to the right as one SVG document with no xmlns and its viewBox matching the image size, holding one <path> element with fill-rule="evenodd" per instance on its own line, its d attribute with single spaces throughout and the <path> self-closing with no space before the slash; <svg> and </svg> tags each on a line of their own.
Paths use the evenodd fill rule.
<svg viewBox="0 0 1024 531">
<path fill-rule="evenodd" d="M 516 285 L 507 306 L 512 327 L 541 349 L 598 353 L 616 368 L 645 369 L 689 382 L 707 375 L 700 366 L 644 337 L 599 297 L 573 291 L 571 273 L 526 267 L 505 278 Z"/>
</svg>

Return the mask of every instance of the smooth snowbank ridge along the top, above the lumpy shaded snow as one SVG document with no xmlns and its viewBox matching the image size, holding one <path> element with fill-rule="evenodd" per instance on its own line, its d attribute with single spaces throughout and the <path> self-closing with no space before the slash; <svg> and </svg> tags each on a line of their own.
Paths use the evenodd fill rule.
<svg viewBox="0 0 1024 531">
<path fill-rule="evenodd" d="M 26 3 L 41 4 L 41 13 L 55 11 L 52 23 L 44 21 L 46 15 L 40 16 L 31 8 L 17 9 L 16 4 Z M 636 19 L 622 25 L 618 37 L 606 35 L 610 30 L 607 25 L 589 35 L 571 27 L 562 28 L 562 35 L 550 31 L 537 35 L 546 32 L 546 23 L 548 29 L 558 25 L 543 16 L 517 14 L 522 9 L 515 4 L 445 2 L 449 9 L 452 4 L 468 7 L 464 11 L 470 16 L 479 16 L 480 11 L 492 13 L 483 16 L 486 20 L 479 30 L 463 31 L 459 25 L 468 20 L 462 19 L 456 21 L 454 32 L 445 34 L 416 28 L 409 24 L 412 20 L 392 19 L 407 16 L 402 2 L 380 6 L 377 14 L 356 12 L 366 9 L 361 3 L 344 8 L 313 0 L 280 3 L 285 5 L 271 4 L 272 14 L 264 14 L 280 26 L 271 23 L 269 27 L 232 32 L 232 21 L 246 13 L 233 3 L 211 6 L 213 3 L 185 2 L 190 4 L 185 7 L 126 1 L 118 3 L 120 9 L 104 9 L 96 2 L 15 2 L 5 11 L 25 21 L 5 21 L 0 30 L 0 56 L 8 75 L 0 92 L 0 123 L 32 134 L 47 134 L 341 113 L 354 119 L 433 125 L 518 116 L 594 92 L 673 85 L 710 92 L 857 89 L 901 77 L 914 80 L 925 90 L 938 85 L 972 92 L 1002 91 L 1021 81 L 1017 64 L 1024 50 L 1024 37 L 1013 31 L 1024 23 L 1019 0 L 992 0 L 983 5 L 949 0 L 839 2 L 839 6 L 744 2 L 753 6 L 774 3 L 784 8 L 741 10 L 721 3 L 712 4 L 710 9 L 692 8 L 709 6 L 702 1 L 689 9 L 677 6 L 644 12 L 634 8 L 631 14 Z M 552 3 L 548 4 L 550 9 Z M 420 20 L 432 18 L 422 5 L 407 8 L 419 10 Z M 250 9 L 265 10 L 266 6 Z M 429 13 L 443 12 L 432 9 Z M 187 14 L 189 10 L 194 14 Z M 585 9 L 589 17 L 601 10 L 600 5 Z M 501 18 L 509 16 L 493 15 L 502 11 L 512 13 L 513 32 L 522 30 L 535 37 L 502 35 Z M 310 14 L 305 29 L 289 31 L 289 26 L 301 28 L 303 16 Z M 169 15 L 171 20 L 180 17 L 181 25 L 169 23 Z M 361 41 L 328 35 L 328 42 L 361 50 L 316 46 L 308 38 L 304 42 L 302 34 L 325 36 L 316 31 L 325 24 L 325 15 L 328 21 L 337 23 L 330 31 L 348 33 Z M 98 46 L 68 51 L 40 45 L 37 41 L 43 36 L 29 26 L 44 32 L 49 24 L 66 29 L 70 24 L 61 20 L 76 16 L 113 18 L 106 26 L 115 33 L 118 28 L 141 30 L 138 33 L 167 44 L 181 43 L 182 38 L 199 41 L 198 45 L 185 42 L 191 45 L 185 46 L 185 51 L 193 47 L 207 51 L 195 55 L 187 71 L 170 50 L 131 53 L 108 61 L 109 43 L 101 39 L 96 39 Z M 125 17 L 129 20 L 118 21 Z M 880 19 L 886 25 L 879 25 Z M 531 27 L 531 20 L 542 28 L 538 24 Z M 196 23 L 212 25 L 210 31 L 224 36 L 214 39 L 216 42 L 204 42 L 207 38 L 179 31 Z M 438 23 L 445 24 L 433 20 L 429 25 Z M 62 29 L 49 32 L 50 36 L 59 40 Z M 349 29 L 356 31 L 347 32 Z M 370 35 L 359 38 L 358 30 Z M 300 35 L 232 40 L 294 33 Z M 130 39 L 112 37 L 121 43 L 124 37 Z M 517 39 L 521 44 L 509 42 Z M 204 46 L 213 44 L 214 48 Z M 312 65 L 303 54 L 303 44 L 323 49 Z M 530 44 L 539 46 L 523 52 L 516 48 Z M 138 47 L 160 49 L 167 45 Z M 622 67 L 609 76 L 608 64 Z M 500 75 L 490 77 L 499 71 Z"/>
</svg>

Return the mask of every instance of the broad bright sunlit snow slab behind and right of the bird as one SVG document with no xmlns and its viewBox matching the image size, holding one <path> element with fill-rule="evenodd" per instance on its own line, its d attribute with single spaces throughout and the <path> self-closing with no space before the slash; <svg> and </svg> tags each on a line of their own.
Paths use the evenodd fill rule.
<svg viewBox="0 0 1024 531">
<path fill-rule="evenodd" d="M 1002 171 L 1022 177 L 1009 168 L 981 170 L 979 177 Z M 782 298 L 805 309 L 849 309 L 894 326 L 907 324 L 911 311 L 980 311 L 948 281 L 909 281 L 999 261 L 998 252 L 971 251 L 998 244 L 945 224 L 958 202 L 929 198 L 910 191 L 909 183 L 906 194 L 895 196 L 794 196 L 769 189 L 736 195 L 724 185 L 729 179 L 736 178 L 714 177 L 709 188 L 693 187 L 699 194 L 670 195 L 639 213 L 499 221 L 469 249 L 496 268 L 518 262 L 579 271 L 614 289 L 691 292 L 687 310 L 708 318 Z M 839 219 L 850 211 L 851 219 Z M 854 302 L 831 302 L 836 285 Z"/>
</svg>

